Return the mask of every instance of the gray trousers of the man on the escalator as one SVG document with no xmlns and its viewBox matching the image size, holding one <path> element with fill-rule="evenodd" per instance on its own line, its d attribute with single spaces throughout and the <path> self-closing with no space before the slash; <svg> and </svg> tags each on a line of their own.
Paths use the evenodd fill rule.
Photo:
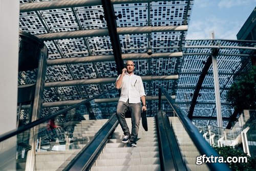
<svg viewBox="0 0 256 171">
<path fill-rule="evenodd" d="M 132 119 L 132 134 L 130 134 L 129 127 L 125 120 L 125 112 L 131 111 Z M 140 126 L 140 103 L 129 103 L 128 101 L 119 101 L 117 104 L 116 116 L 119 124 L 122 127 L 124 135 L 131 135 L 130 143 L 136 142 Z"/>
</svg>

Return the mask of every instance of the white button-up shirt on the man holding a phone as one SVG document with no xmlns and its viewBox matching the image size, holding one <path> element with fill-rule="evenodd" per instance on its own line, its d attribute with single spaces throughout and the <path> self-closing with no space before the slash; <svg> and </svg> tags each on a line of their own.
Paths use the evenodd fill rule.
<svg viewBox="0 0 256 171">
<path fill-rule="evenodd" d="M 118 80 L 120 76 L 121 75 L 119 75 L 116 80 Z M 146 96 L 142 79 L 135 74 L 129 75 L 125 73 L 120 89 L 121 95 L 119 101 L 126 102 L 129 99 L 129 103 L 140 103 L 140 97 Z"/>
</svg>

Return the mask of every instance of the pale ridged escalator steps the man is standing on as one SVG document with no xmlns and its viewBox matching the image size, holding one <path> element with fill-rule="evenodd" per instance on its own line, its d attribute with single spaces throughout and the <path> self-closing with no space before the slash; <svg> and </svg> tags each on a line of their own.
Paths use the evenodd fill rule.
<svg viewBox="0 0 256 171">
<path fill-rule="evenodd" d="M 126 122 L 131 128 L 131 118 L 126 118 Z M 147 132 L 140 126 L 138 147 L 121 142 L 123 132 L 119 124 L 90 170 L 161 170 L 156 120 L 150 117 L 147 123 Z"/>
</svg>

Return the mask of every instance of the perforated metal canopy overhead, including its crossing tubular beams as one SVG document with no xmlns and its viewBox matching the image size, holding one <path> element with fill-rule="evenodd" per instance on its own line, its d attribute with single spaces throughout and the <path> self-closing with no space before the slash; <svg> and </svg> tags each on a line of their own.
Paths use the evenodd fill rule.
<svg viewBox="0 0 256 171">
<path fill-rule="evenodd" d="M 219 48 L 223 125 L 230 116 L 232 121 L 236 118 L 226 93 L 234 78 L 250 66 L 255 41 L 185 40 L 194 1 L 104 2 L 108 5 L 101 0 L 20 1 L 20 30 L 44 40 L 49 51 L 42 117 L 62 104 L 111 90 L 122 63 L 134 60 L 135 73 L 144 80 L 149 115 L 158 110 L 156 97 L 163 86 L 195 122 L 217 125 L 212 65 L 207 71 L 204 66 L 212 49 Z M 34 83 L 35 73 L 20 72 L 18 85 Z M 116 95 L 94 105 L 114 112 Z M 26 119 L 26 109 L 22 115 Z"/>
</svg>

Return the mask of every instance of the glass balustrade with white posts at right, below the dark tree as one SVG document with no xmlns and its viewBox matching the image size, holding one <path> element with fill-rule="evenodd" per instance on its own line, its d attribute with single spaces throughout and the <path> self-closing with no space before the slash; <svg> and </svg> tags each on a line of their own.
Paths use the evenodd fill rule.
<svg viewBox="0 0 256 171">
<path fill-rule="evenodd" d="M 193 122 L 211 146 L 239 146 L 244 152 L 256 156 L 256 114 L 255 110 L 244 111 L 232 129 L 203 125 Z"/>
</svg>

